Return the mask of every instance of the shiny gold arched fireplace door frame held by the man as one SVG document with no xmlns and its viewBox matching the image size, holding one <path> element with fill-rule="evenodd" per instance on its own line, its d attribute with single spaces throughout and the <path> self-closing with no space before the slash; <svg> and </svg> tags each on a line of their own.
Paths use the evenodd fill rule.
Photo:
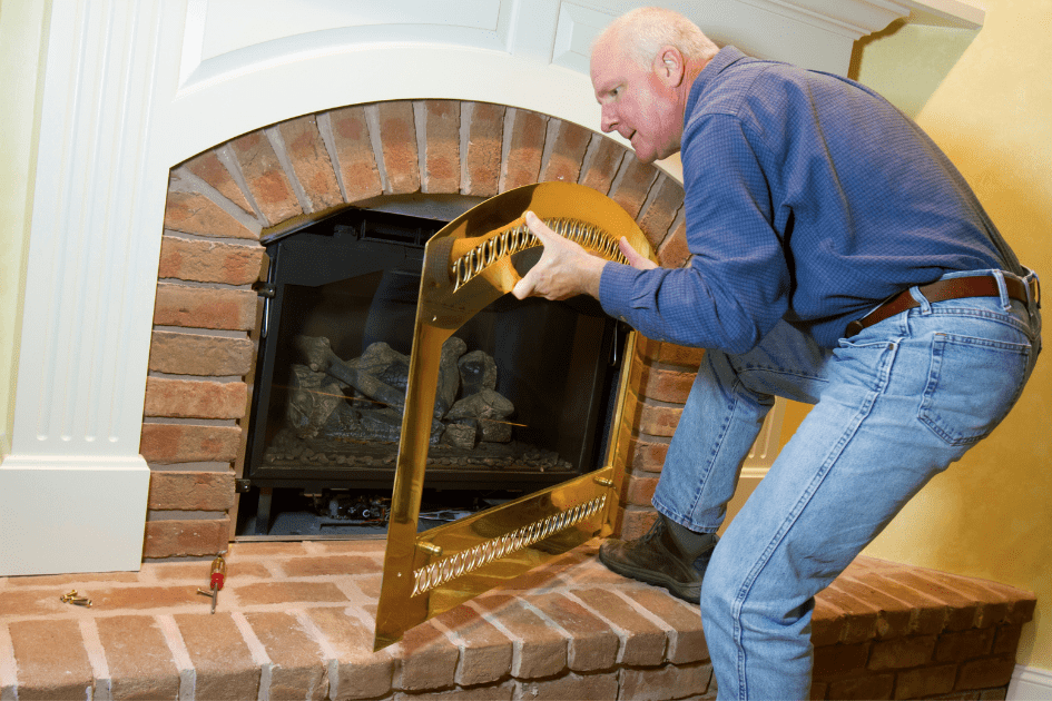
<svg viewBox="0 0 1052 701">
<path fill-rule="evenodd" d="M 533 211 L 548 226 L 608 260 L 625 263 L 623 236 L 651 260 L 635 220 L 596 190 L 541 182 L 509 190 L 461 215 L 424 249 L 402 436 L 391 500 L 374 649 L 411 628 L 611 532 L 621 473 L 615 471 L 630 363 L 603 466 L 556 486 L 417 533 L 442 344 L 520 279 L 512 257 L 541 246 L 523 220 Z M 635 334 L 626 358 L 632 357 Z M 583 467 L 583 466 L 579 466 Z M 617 473 L 617 474 L 615 474 Z"/>
</svg>

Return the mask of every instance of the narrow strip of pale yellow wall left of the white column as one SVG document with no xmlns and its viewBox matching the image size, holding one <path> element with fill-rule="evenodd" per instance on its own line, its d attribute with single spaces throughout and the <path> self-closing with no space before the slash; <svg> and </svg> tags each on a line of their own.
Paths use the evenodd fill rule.
<svg viewBox="0 0 1052 701">
<path fill-rule="evenodd" d="M 0 2 L 0 455 L 11 450 L 46 0 Z"/>
</svg>

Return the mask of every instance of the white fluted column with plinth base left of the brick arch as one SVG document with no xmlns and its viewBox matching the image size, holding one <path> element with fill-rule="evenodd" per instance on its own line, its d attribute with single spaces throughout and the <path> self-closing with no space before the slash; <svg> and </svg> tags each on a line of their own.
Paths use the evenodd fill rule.
<svg viewBox="0 0 1052 701">
<path fill-rule="evenodd" d="M 11 454 L 0 464 L 3 574 L 141 562 L 139 435 L 168 179 L 150 150 L 159 20 L 156 3 L 121 0 L 51 13 Z"/>
</svg>

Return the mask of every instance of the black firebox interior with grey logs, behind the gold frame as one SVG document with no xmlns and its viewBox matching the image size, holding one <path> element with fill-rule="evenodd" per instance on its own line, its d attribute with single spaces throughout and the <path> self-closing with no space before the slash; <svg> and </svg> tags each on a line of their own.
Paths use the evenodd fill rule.
<svg viewBox="0 0 1052 701">
<path fill-rule="evenodd" d="M 264 241 L 238 535 L 385 532 L 423 249 L 445 224 L 347 209 Z M 599 467 L 623 342 L 583 297 L 505 295 L 460 328 L 443 346 L 421 527 Z"/>
</svg>

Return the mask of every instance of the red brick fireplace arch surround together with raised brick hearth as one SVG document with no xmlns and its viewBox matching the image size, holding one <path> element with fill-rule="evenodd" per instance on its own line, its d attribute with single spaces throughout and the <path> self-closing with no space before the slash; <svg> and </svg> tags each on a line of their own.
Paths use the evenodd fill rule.
<svg viewBox="0 0 1052 701">
<path fill-rule="evenodd" d="M 715 698 L 697 611 L 596 560 L 598 542 L 410 631 L 377 654 L 382 541 L 230 544 L 262 234 L 346 204 L 491 197 L 576 181 L 631 214 L 666 266 L 682 188 L 577 125 L 481 102 L 306 115 L 171 170 L 146 387 L 151 468 L 138 573 L 0 577 L 0 701 L 19 699 Z M 641 339 L 620 532 L 650 496 L 697 350 Z M 227 552 L 215 615 L 196 588 Z M 76 589 L 83 609 L 60 598 Z M 1003 699 L 1032 594 L 859 557 L 817 602 L 815 699 Z"/>
</svg>

